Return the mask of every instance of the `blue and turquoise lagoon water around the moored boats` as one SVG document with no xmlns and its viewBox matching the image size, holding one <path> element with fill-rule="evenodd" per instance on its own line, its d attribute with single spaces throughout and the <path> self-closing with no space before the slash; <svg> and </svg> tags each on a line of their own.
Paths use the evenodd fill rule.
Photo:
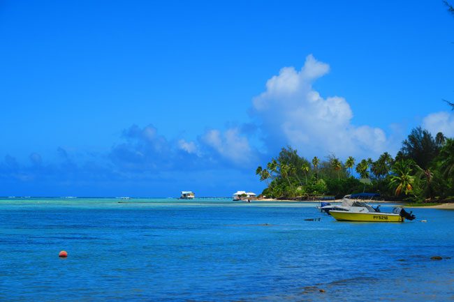
<svg viewBox="0 0 454 302">
<path fill-rule="evenodd" d="M 361 223 L 315 206 L 1 199 L 0 300 L 454 300 L 454 259 L 430 259 L 454 256 L 454 211 Z"/>
</svg>

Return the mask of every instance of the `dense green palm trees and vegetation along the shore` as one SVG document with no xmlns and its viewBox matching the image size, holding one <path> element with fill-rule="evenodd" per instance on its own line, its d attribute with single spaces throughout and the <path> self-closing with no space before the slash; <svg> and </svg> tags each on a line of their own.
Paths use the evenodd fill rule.
<svg viewBox="0 0 454 302">
<path fill-rule="evenodd" d="M 280 199 L 378 192 L 392 200 L 442 202 L 454 195 L 454 139 L 418 127 L 395 158 L 385 152 L 376 160 L 350 156 L 345 163 L 334 154 L 309 161 L 287 146 L 256 174 L 268 185 L 263 195 Z"/>
</svg>

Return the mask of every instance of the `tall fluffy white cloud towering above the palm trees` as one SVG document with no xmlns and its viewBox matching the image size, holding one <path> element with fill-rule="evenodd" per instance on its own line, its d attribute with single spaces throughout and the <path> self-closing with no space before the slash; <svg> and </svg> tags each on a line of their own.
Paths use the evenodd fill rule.
<svg viewBox="0 0 454 302">
<path fill-rule="evenodd" d="M 269 151 L 290 144 L 304 156 L 377 156 L 388 148 L 383 130 L 353 126 L 349 103 L 339 96 L 323 98 L 312 84 L 328 73 L 328 64 L 314 56 L 301 70 L 282 68 L 253 100 L 253 115 Z"/>
</svg>

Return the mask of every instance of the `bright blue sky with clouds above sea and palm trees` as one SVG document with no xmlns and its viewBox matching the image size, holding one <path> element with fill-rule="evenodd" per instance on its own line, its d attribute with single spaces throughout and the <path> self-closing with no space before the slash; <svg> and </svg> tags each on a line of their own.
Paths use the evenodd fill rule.
<svg viewBox="0 0 454 302">
<path fill-rule="evenodd" d="M 454 136 L 441 1 L 0 1 L 0 195 L 261 191 L 257 165 Z"/>
</svg>

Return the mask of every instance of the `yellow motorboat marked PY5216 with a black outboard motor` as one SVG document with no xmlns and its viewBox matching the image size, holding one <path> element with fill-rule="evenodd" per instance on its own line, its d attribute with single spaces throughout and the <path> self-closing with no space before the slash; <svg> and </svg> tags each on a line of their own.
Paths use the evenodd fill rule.
<svg viewBox="0 0 454 302">
<path fill-rule="evenodd" d="M 412 212 L 408 213 L 402 207 L 397 206 L 392 213 L 381 212 L 368 204 L 363 208 L 352 206 L 348 211 L 331 210 L 330 214 L 338 221 L 362 221 L 362 222 L 404 222 L 404 219 L 413 220 L 416 217 Z"/>
</svg>

